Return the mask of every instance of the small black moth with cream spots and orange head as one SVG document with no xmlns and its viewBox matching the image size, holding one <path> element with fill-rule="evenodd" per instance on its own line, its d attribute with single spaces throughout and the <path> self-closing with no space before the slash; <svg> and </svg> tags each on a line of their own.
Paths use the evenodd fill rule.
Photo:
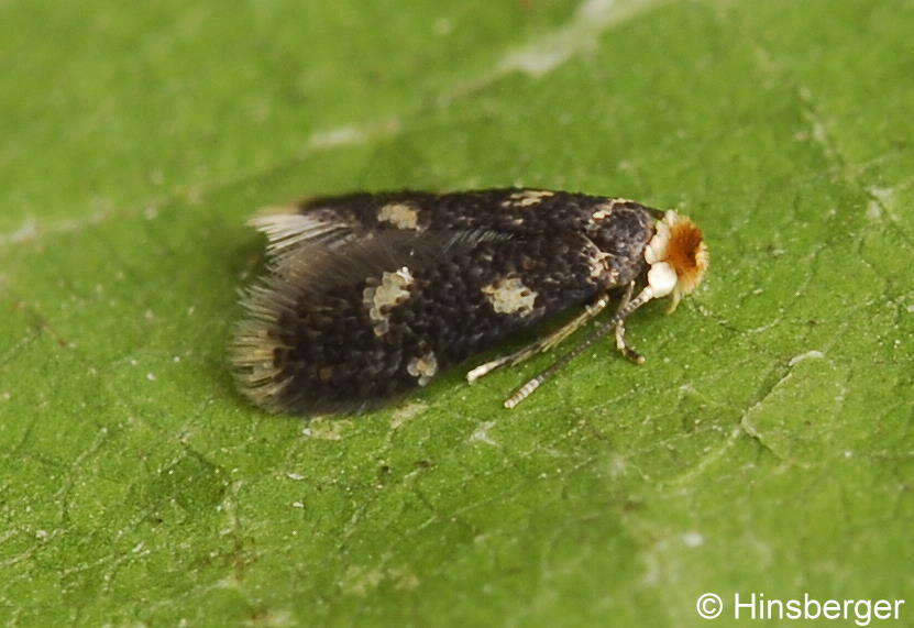
<svg viewBox="0 0 914 628">
<path fill-rule="evenodd" d="M 395 191 L 311 198 L 250 222 L 268 266 L 231 348 L 239 389 L 274 412 L 357 412 L 565 315 L 551 333 L 466 374 L 469 383 L 549 351 L 616 312 L 505 401 L 515 407 L 599 338 L 629 360 L 625 322 L 670 311 L 708 265 L 689 218 L 632 200 L 544 189 Z"/>
</svg>

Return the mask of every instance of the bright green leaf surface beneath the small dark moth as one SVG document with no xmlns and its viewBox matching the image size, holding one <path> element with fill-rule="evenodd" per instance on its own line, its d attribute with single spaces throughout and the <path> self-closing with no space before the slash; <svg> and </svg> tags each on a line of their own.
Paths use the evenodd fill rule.
<svg viewBox="0 0 914 628">
<path fill-rule="evenodd" d="M 0 3 L 0 623 L 904 598 L 912 32 L 903 0 Z M 235 394 L 255 208 L 513 184 L 704 228 L 643 366 L 601 345 L 510 412 L 550 357 L 346 419 Z"/>
</svg>

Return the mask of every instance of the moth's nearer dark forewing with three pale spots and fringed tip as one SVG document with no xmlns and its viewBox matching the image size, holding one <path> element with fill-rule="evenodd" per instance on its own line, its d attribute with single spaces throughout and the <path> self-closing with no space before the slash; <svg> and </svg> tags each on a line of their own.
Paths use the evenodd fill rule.
<svg viewBox="0 0 914 628">
<path fill-rule="evenodd" d="M 274 411 L 359 411 L 606 289 L 574 233 L 376 231 L 291 246 L 234 341 L 241 390 Z"/>
</svg>

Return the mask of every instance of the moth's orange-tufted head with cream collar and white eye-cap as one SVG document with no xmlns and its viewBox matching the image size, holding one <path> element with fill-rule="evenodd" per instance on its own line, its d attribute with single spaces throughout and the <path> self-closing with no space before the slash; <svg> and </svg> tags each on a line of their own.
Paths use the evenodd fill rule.
<svg viewBox="0 0 914 628">
<path fill-rule="evenodd" d="M 673 311 L 705 276 L 708 254 L 702 230 L 689 217 L 667 211 L 645 247 L 645 261 L 650 264 L 648 285 L 653 296 L 671 295 L 669 311 Z"/>
</svg>

